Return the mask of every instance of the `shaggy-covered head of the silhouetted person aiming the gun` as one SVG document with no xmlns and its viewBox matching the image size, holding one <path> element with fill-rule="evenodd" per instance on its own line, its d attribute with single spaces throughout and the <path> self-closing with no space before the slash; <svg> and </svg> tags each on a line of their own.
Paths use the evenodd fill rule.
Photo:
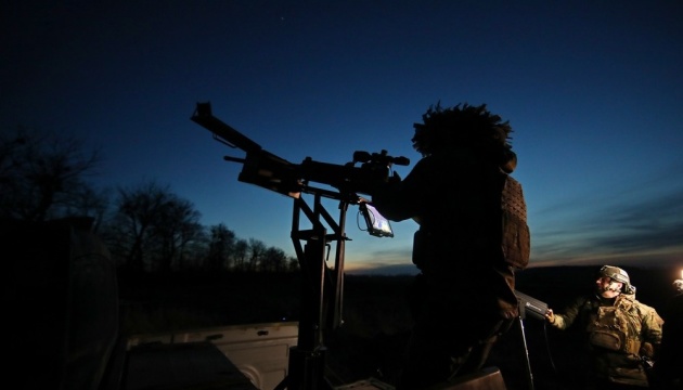
<svg viewBox="0 0 683 390">
<path fill-rule="evenodd" d="M 412 142 L 423 157 L 462 147 L 499 165 L 508 173 L 517 165 L 517 156 L 510 143 L 513 131 L 510 122 L 491 114 L 486 104 L 473 106 L 464 103 L 443 108 L 437 103 L 422 115 L 422 121 L 413 125 L 415 134 Z"/>
</svg>

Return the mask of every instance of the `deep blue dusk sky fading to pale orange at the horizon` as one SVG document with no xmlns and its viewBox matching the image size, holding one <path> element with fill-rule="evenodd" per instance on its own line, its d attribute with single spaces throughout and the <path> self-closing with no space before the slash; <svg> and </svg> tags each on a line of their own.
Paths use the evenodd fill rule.
<svg viewBox="0 0 683 390">
<path fill-rule="evenodd" d="M 294 255 L 292 200 L 237 181 L 197 102 L 292 162 L 387 150 L 401 176 L 429 105 L 486 103 L 514 129 L 532 264 L 683 265 L 680 1 L 30 3 L 2 5 L 0 128 L 101 146 L 103 186 L 169 184 Z M 416 224 L 371 237 L 356 211 L 347 270 L 410 265 Z"/>
</svg>

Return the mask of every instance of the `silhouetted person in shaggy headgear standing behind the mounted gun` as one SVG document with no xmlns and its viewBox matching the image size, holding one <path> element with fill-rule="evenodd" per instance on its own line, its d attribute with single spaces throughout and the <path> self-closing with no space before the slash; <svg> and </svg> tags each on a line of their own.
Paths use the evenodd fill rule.
<svg viewBox="0 0 683 390">
<path fill-rule="evenodd" d="M 422 159 L 404 180 L 372 194 L 389 220 L 420 224 L 415 323 L 399 390 L 456 380 L 486 364 L 518 315 L 515 270 L 527 265 L 530 246 L 521 187 L 508 177 L 517 162 L 508 122 L 485 104 L 437 104 L 414 130 Z M 502 206 L 506 193 L 510 207 Z"/>
</svg>

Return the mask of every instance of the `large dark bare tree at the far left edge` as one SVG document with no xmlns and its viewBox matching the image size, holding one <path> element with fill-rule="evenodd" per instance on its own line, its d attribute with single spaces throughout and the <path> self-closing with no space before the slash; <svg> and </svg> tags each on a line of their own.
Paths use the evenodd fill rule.
<svg viewBox="0 0 683 390">
<path fill-rule="evenodd" d="M 0 217 L 44 221 L 101 217 L 106 197 L 86 182 L 100 162 L 82 141 L 20 127 L 0 134 Z M 87 214 L 85 214 L 87 213 Z"/>
</svg>

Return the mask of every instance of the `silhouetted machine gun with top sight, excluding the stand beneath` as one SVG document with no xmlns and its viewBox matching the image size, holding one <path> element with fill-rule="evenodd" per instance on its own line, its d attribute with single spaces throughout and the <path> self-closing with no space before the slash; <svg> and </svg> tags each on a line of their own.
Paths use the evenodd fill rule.
<svg viewBox="0 0 683 390">
<path fill-rule="evenodd" d="M 332 197 L 351 198 L 357 197 L 356 193 L 372 194 L 377 183 L 388 180 L 391 165 L 410 164 L 405 157 L 388 156 L 387 151 L 373 154 L 356 152 L 353 161 L 346 165 L 319 162 L 310 157 L 300 165 L 292 164 L 265 151 L 258 143 L 216 118 L 211 114 L 210 103 L 197 103 L 191 119 L 212 132 L 214 138 L 221 143 L 246 152 L 244 159 L 224 157 L 225 160 L 244 164 L 237 178 L 240 181 L 294 198 L 298 198 L 301 192 L 313 190 L 308 186 L 308 182 L 323 183 L 339 190 L 339 194 L 327 193 Z M 356 167 L 357 162 L 361 162 L 361 166 Z"/>
</svg>

